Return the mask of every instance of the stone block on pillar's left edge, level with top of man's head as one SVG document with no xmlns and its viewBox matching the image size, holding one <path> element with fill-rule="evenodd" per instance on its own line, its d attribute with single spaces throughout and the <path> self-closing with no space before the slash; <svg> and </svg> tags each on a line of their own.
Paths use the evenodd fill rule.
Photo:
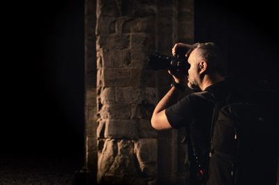
<svg viewBox="0 0 279 185">
<path fill-rule="evenodd" d="M 124 49 L 130 46 L 129 34 L 102 34 L 96 38 L 97 50 L 103 48 L 105 50 Z"/>
</svg>

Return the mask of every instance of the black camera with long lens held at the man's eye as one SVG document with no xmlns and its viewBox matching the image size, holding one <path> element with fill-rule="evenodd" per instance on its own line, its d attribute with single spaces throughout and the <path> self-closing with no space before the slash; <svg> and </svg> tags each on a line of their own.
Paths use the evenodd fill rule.
<svg viewBox="0 0 279 185">
<path fill-rule="evenodd" d="M 176 57 L 169 57 L 159 52 L 149 55 L 149 66 L 153 70 L 165 69 L 170 71 L 188 72 L 190 65 L 187 62 L 186 52 L 179 52 Z"/>
</svg>

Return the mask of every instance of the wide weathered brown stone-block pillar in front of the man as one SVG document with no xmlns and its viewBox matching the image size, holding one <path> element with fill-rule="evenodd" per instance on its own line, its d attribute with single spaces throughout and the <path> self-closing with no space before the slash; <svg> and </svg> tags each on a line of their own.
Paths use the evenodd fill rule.
<svg viewBox="0 0 279 185">
<path fill-rule="evenodd" d="M 155 184 L 156 1 L 97 1 L 98 183 Z"/>
</svg>

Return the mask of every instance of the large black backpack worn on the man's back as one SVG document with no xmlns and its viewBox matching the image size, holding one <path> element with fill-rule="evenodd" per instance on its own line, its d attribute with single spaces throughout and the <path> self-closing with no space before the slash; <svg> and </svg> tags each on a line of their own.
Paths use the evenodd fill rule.
<svg viewBox="0 0 279 185">
<path fill-rule="evenodd" d="M 214 102 L 208 185 L 276 184 L 275 98 L 271 91 L 252 91 Z"/>
</svg>

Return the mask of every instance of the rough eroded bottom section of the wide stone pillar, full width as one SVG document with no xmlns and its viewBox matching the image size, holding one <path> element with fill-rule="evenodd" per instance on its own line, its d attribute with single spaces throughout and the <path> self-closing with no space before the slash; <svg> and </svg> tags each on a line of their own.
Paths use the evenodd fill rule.
<svg viewBox="0 0 279 185">
<path fill-rule="evenodd" d="M 156 139 L 107 139 L 99 150 L 99 184 L 153 184 L 156 179 Z"/>
</svg>

